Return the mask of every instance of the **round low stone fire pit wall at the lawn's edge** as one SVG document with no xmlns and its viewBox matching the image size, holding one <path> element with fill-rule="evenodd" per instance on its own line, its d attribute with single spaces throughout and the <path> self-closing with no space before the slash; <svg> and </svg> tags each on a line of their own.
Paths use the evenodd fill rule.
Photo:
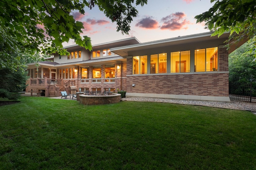
<svg viewBox="0 0 256 170">
<path fill-rule="evenodd" d="M 121 100 L 121 94 L 112 94 L 106 96 L 89 96 L 80 94 L 80 103 L 84 105 L 100 105 L 100 104 L 113 104 Z"/>
</svg>

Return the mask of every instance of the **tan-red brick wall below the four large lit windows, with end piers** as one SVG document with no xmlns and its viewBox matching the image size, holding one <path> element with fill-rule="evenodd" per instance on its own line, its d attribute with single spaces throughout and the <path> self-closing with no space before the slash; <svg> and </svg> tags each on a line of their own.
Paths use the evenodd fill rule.
<svg viewBox="0 0 256 170">
<path fill-rule="evenodd" d="M 219 72 L 166 75 L 132 75 L 132 58 L 127 59 L 127 92 L 195 96 L 228 96 L 228 51 L 219 49 Z M 136 84 L 136 86 L 132 86 Z"/>
</svg>

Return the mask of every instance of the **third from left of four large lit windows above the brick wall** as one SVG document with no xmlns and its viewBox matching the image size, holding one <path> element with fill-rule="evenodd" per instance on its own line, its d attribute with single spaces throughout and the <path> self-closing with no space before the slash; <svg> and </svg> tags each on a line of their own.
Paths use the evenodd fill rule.
<svg viewBox="0 0 256 170">
<path fill-rule="evenodd" d="M 190 72 L 190 51 L 171 53 L 171 73 Z"/>
</svg>

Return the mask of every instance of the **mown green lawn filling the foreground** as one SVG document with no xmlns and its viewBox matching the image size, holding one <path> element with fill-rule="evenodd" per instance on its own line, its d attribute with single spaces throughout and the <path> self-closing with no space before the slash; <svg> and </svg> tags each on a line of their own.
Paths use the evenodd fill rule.
<svg viewBox="0 0 256 170">
<path fill-rule="evenodd" d="M 152 102 L 0 107 L 0 169 L 256 169 L 256 115 Z"/>
</svg>

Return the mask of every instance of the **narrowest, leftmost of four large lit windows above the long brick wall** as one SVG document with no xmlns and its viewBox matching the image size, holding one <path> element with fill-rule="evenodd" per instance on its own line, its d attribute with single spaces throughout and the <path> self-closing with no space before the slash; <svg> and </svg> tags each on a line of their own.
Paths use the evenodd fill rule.
<svg viewBox="0 0 256 170">
<path fill-rule="evenodd" d="M 147 59 L 146 55 L 133 57 L 133 74 L 147 74 Z"/>
</svg>

